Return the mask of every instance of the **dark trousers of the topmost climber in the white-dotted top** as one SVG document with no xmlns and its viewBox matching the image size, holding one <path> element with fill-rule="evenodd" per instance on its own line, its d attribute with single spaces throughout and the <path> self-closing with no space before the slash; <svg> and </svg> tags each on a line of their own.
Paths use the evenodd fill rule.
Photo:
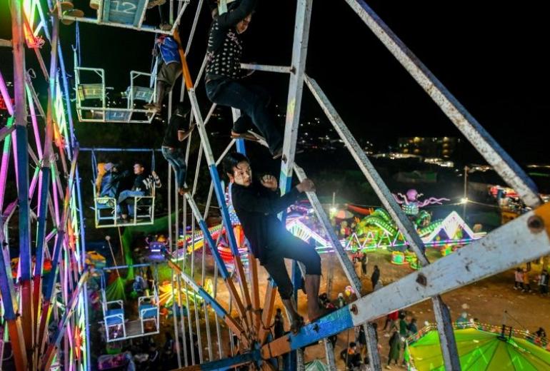
<svg viewBox="0 0 550 371">
<path fill-rule="evenodd" d="M 206 96 L 219 106 L 240 109 L 243 116 L 247 116 L 241 116 L 236 121 L 233 128 L 236 133 L 246 132 L 251 120 L 261 135 L 266 138 L 271 153 L 275 153 L 283 146 L 283 137 L 267 108 L 271 98 L 269 93 L 260 86 L 244 81 L 218 78 L 206 83 Z"/>
</svg>

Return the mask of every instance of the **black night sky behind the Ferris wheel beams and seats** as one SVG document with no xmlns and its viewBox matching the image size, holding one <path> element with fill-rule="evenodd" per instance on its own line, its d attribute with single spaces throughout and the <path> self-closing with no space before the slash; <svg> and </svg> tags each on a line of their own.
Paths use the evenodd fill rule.
<svg viewBox="0 0 550 371">
<path fill-rule="evenodd" d="M 260 3 L 246 32 L 246 61 L 289 65 L 295 2 Z M 87 8 L 87 1 L 75 4 Z M 546 148 L 550 134 L 548 63 L 543 57 L 547 26 L 541 4 L 389 0 L 368 4 L 514 158 L 547 160 L 539 149 Z M 182 21 L 182 39 L 189 32 L 195 6 L 193 1 Z M 3 8 L 1 17 L 6 19 L 5 2 Z M 156 11 L 147 14 L 149 21 L 156 20 Z M 210 21 L 205 6 L 189 56 L 194 75 L 204 56 Z M 9 25 L 0 23 L 0 37 L 9 39 Z M 61 27 L 71 68 L 75 26 Z M 80 31 L 83 65 L 106 68 L 109 85 L 119 91 L 128 86 L 131 69 L 149 70 L 153 34 L 89 24 L 81 24 Z M 6 56 L 2 51 L 0 67 L 9 76 L 11 61 Z M 314 1 L 306 71 L 351 131 L 379 147 L 396 143 L 400 136 L 460 136 L 344 1 Z M 286 104 L 288 76 L 255 73 L 254 79 L 271 91 L 275 103 Z M 198 93 L 206 103 L 202 86 Z M 323 117 L 322 112 L 304 90 L 302 119 L 316 116 Z"/>
</svg>

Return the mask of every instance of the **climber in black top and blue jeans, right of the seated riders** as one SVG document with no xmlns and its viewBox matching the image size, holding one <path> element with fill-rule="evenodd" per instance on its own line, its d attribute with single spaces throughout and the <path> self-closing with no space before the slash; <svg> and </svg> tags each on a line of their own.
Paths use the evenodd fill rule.
<svg viewBox="0 0 550 371">
<path fill-rule="evenodd" d="M 161 148 L 162 156 L 164 156 L 176 172 L 179 195 L 189 192 L 189 188 L 185 186 L 187 165 L 185 163 L 184 149 L 181 148 L 180 144 L 189 137 L 191 131 L 194 129 L 194 124 L 191 127 L 187 124 L 188 113 L 189 111 L 186 111 L 182 103 L 176 104 L 176 110 L 166 127 Z"/>
</svg>

